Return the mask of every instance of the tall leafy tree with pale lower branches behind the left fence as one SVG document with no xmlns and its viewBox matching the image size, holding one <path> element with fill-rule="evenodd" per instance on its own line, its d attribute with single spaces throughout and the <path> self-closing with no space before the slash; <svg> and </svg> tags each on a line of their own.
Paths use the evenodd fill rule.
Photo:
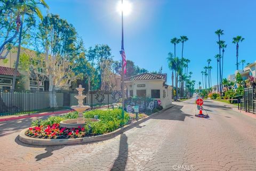
<svg viewBox="0 0 256 171">
<path fill-rule="evenodd" d="M 45 67 L 39 74 L 49 79 L 49 91 L 70 87 L 77 79 L 77 58 L 84 52 L 75 28 L 59 15 L 48 14 L 38 26 L 35 45 L 37 52 L 45 56 Z M 56 94 L 53 95 L 51 107 L 57 105 Z"/>
</svg>

